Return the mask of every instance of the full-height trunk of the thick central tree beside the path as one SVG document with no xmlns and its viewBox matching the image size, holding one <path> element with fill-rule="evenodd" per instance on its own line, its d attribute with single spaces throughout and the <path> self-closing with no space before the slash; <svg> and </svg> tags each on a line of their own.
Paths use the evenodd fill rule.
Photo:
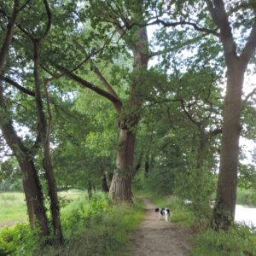
<svg viewBox="0 0 256 256">
<path fill-rule="evenodd" d="M 140 6 L 135 10 L 141 15 Z M 143 20 L 143 17 L 141 17 Z M 132 41 L 131 41 L 132 38 Z M 139 122 L 138 109 L 143 103 L 142 85 L 148 68 L 148 35 L 146 27 L 135 27 L 132 37 L 127 41 L 133 52 L 133 80 L 130 87 L 130 100 L 123 112 L 128 112 L 119 121 L 119 148 L 116 159 L 116 169 L 109 189 L 109 194 L 115 201 L 132 201 L 131 181 L 134 172 L 133 155 L 136 142 L 136 128 Z M 121 111 L 121 115 L 122 115 Z"/>
</svg>

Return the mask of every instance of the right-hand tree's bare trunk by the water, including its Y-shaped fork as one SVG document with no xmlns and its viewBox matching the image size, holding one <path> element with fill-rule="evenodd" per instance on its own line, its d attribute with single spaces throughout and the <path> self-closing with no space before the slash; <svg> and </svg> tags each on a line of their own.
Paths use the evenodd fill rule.
<svg viewBox="0 0 256 256">
<path fill-rule="evenodd" d="M 223 46 L 227 67 L 227 86 L 224 100 L 224 123 L 218 190 L 216 206 L 213 212 L 212 227 L 216 230 L 228 230 L 234 222 L 236 208 L 236 183 L 241 132 L 241 90 L 247 64 L 256 47 L 256 17 L 247 44 L 237 54 L 236 42 L 232 34 L 229 15 L 223 0 L 206 0 L 212 20 L 219 28 L 219 39 Z M 255 4 L 253 6 L 255 9 Z"/>
</svg>

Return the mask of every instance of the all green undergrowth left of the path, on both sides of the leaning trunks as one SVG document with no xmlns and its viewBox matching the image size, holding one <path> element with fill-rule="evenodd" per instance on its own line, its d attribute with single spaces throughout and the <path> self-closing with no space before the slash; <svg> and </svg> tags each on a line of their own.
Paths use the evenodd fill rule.
<svg viewBox="0 0 256 256">
<path fill-rule="evenodd" d="M 0 255 L 125 255 L 142 214 L 140 201 L 114 206 L 107 195 L 96 193 L 91 201 L 80 198 L 61 210 L 63 245 L 42 249 L 27 224 L 16 224 L 1 231 Z"/>
</svg>

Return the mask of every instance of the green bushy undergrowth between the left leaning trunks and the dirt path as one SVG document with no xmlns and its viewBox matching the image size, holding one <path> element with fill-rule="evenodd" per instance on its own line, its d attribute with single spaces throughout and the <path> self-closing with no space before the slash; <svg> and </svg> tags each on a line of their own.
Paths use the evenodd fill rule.
<svg viewBox="0 0 256 256">
<path fill-rule="evenodd" d="M 129 234 L 141 220 L 142 207 L 137 201 L 136 206 L 116 207 L 107 195 L 93 195 L 62 217 L 65 245 L 45 248 L 44 255 L 125 255 Z"/>
</svg>

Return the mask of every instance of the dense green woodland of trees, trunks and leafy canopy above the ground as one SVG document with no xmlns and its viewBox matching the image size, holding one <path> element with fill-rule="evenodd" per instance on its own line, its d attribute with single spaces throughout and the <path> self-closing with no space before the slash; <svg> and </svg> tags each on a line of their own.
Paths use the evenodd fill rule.
<svg viewBox="0 0 256 256">
<path fill-rule="evenodd" d="M 64 189 L 175 195 L 230 229 L 256 189 L 255 0 L 4 0 L 0 29 L 1 186 L 44 245 L 65 241 Z"/>
</svg>

